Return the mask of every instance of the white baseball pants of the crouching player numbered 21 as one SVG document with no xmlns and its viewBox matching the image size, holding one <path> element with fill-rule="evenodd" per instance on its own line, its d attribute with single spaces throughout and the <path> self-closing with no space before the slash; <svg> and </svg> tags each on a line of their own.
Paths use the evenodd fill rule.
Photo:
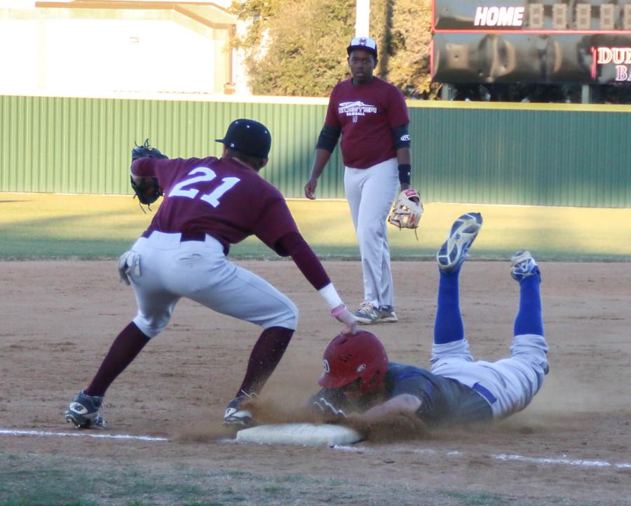
<svg viewBox="0 0 631 506">
<path fill-rule="evenodd" d="M 138 303 L 134 323 L 142 333 L 158 335 L 182 297 L 263 328 L 296 329 L 296 305 L 264 279 L 229 261 L 217 239 L 207 234 L 205 241 L 180 242 L 180 237 L 153 232 L 132 248 L 140 253 L 140 276 L 131 273 L 130 278 Z"/>
</svg>

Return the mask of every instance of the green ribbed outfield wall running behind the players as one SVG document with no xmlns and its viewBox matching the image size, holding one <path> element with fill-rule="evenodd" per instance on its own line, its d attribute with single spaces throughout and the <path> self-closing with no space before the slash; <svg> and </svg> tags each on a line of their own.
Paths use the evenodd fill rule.
<svg viewBox="0 0 631 506">
<path fill-rule="evenodd" d="M 0 192 L 130 194 L 134 142 L 217 156 L 226 126 L 269 126 L 262 175 L 302 197 L 326 99 L 0 96 Z M 232 100 L 232 101 L 229 101 Z M 428 202 L 631 207 L 631 106 L 409 101 L 414 187 Z M 318 196 L 343 198 L 339 150 Z"/>
</svg>

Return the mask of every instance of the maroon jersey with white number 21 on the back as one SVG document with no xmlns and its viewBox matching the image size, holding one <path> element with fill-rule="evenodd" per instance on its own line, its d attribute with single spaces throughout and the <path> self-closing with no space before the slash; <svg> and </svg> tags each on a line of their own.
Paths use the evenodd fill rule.
<svg viewBox="0 0 631 506">
<path fill-rule="evenodd" d="M 234 159 L 141 158 L 132 173 L 156 175 L 164 190 L 149 231 L 209 234 L 226 254 L 230 244 L 252 234 L 276 251 L 280 237 L 298 232 L 283 194 Z M 287 254 L 282 248 L 277 253 Z"/>
</svg>

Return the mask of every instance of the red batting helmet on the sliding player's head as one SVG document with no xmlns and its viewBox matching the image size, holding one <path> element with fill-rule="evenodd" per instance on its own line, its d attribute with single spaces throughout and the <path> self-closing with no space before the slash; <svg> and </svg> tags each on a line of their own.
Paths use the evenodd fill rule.
<svg viewBox="0 0 631 506">
<path fill-rule="evenodd" d="M 363 393 L 374 392 L 388 371 L 386 348 L 376 335 L 358 331 L 355 335 L 342 333 L 334 338 L 323 354 L 324 372 L 318 385 L 340 388 L 361 380 Z"/>
</svg>

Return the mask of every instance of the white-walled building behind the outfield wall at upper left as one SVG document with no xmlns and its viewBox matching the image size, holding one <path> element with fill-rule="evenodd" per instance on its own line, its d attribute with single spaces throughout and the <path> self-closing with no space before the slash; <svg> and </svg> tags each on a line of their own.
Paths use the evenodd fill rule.
<svg viewBox="0 0 631 506">
<path fill-rule="evenodd" d="M 247 95 L 229 4 L 0 0 L 0 93 Z"/>
</svg>

